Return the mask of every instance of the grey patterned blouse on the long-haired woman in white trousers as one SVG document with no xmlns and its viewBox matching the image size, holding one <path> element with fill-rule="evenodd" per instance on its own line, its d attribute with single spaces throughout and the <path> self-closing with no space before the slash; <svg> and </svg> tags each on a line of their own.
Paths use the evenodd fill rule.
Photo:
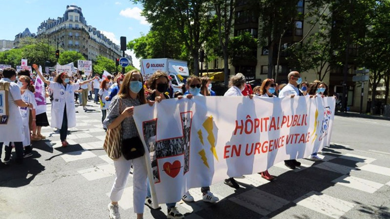
<svg viewBox="0 0 390 219">
<path fill-rule="evenodd" d="M 119 101 L 122 101 L 121 111 L 119 112 Z M 103 127 L 107 128 L 119 115 L 126 109 L 126 107 L 139 106 L 140 100 L 129 98 L 121 99 L 118 96 L 112 98 L 108 114 L 103 121 Z M 133 138 L 138 135 L 137 127 L 135 126 L 134 118 L 128 117 L 122 121 L 122 139 Z"/>
</svg>

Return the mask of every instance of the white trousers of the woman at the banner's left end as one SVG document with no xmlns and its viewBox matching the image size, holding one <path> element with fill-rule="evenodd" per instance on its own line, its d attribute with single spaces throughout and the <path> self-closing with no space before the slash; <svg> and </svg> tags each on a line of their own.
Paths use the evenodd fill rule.
<svg viewBox="0 0 390 219">
<path fill-rule="evenodd" d="M 130 167 L 133 164 L 133 208 L 136 214 L 144 213 L 144 204 L 147 194 L 147 169 L 144 157 L 133 160 L 126 160 L 123 156 L 114 161 L 115 182 L 112 185 L 110 199 L 119 201 L 122 198 L 123 190 L 126 187 Z"/>
</svg>

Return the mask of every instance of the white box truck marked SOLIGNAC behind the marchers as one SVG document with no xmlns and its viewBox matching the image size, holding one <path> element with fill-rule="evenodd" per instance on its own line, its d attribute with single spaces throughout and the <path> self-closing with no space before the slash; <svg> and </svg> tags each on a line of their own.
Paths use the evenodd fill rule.
<svg viewBox="0 0 390 219">
<path fill-rule="evenodd" d="M 155 71 L 163 71 L 172 77 L 174 91 L 180 91 L 183 86 L 183 80 L 190 76 L 186 61 L 175 60 L 171 58 L 151 58 L 141 59 L 141 74 L 144 80 L 150 78 Z"/>
</svg>

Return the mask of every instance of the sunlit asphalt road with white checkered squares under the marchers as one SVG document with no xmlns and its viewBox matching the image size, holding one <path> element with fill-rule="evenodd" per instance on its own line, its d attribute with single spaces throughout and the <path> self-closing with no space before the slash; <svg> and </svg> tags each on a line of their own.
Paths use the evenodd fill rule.
<svg viewBox="0 0 390 219">
<path fill-rule="evenodd" d="M 68 137 L 72 146 L 60 147 L 59 134 L 45 128 L 48 140 L 34 142 L 34 156 L 23 165 L 0 163 L 1 219 L 108 218 L 114 168 L 102 149 L 98 105 L 89 108 L 77 108 L 77 126 Z M 300 159 L 302 168 L 294 171 L 273 166 L 273 182 L 255 174 L 237 179 L 237 190 L 212 185 L 220 197 L 215 204 L 204 203 L 200 189 L 191 189 L 195 202 L 177 207 L 191 219 L 390 218 L 390 121 L 337 116 L 332 145 L 324 152 L 323 161 Z M 132 177 L 119 203 L 122 218 L 136 218 Z M 145 207 L 144 218 L 166 218 L 161 207 Z"/>
</svg>

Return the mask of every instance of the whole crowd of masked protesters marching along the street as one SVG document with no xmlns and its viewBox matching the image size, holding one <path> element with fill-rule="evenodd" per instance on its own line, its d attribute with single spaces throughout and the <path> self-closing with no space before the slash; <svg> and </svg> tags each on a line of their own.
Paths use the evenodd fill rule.
<svg viewBox="0 0 390 219">
<path fill-rule="evenodd" d="M 43 75 L 37 65 L 32 66 L 35 72 L 7 68 L 0 71 L 0 90 L 8 90 L 9 117 L 6 125 L 0 125 L 2 133 L 0 142 L 0 159 L 3 144 L 5 144 L 5 156 L 3 162 L 10 164 L 11 150 L 14 146 L 17 163 L 22 163 L 24 158 L 32 156 L 31 141 L 44 140 L 41 128 L 50 126 L 57 128 L 60 133 L 62 147 L 67 147 L 67 130 L 76 125 L 76 106 L 87 109 L 87 102 L 93 100 L 99 104 L 102 113 L 102 124 L 105 130 L 115 129 L 121 125 L 122 139 L 138 136 L 138 131 L 133 119 L 134 107 L 141 104 L 153 105 L 172 98 L 193 98 L 198 96 L 216 95 L 212 90 L 211 79 L 208 77 L 190 76 L 186 80 L 182 92 L 174 92 L 170 78 L 165 72 L 156 71 L 147 81 L 139 71 L 133 70 L 126 74 L 115 74 L 100 78 L 99 74 L 92 76 L 71 74 L 67 72 L 52 72 Z M 43 92 L 45 99 L 50 97 L 51 121 L 46 115 L 46 105 L 37 106 L 34 92 L 37 87 L 36 80 L 40 78 L 44 83 Z M 267 98 L 292 98 L 294 96 L 309 95 L 310 98 L 321 98 L 328 95 L 328 85 L 321 81 L 312 83 L 303 82 L 300 73 L 290 72 L 287 76 L 288 84 L 278 85 L 274 79 L 268 78 L 262 81 L 261 86 L 253 88 L 246 83 L 245 76 L 238 73 L 230 77 L 229 89 L 224 96 L 254 96 Z M 92 93 L 94 98 L 92 99 Z M 80 101 L 80 102 L 78 102 Z M 173 113 L 173 112 L 172 112 Z M 4 121 L 2 121 L 4 122 Z M 23 149 L 24 148 L 24 149 Z M 310 159 L 321 160 L 317 154 L 312 154 Z M 296 160 L 284 161 L 285 166 L 294 169 L 301 163 Z M 116 178 L 110 194 L 111 202 L 108 210 L 111 219 L 119 219 L 118 201 L 121 200 L 130 168 L 133 168 L 133 207 L 138 219 L 143 218 L 144 205 L 153 208 L 149 180 L 147 180 L 147 168 L 142 157 L 127 160 L 123 156 L 114 161 Z M 266 180 L 273 180 L 268 170 L 259 173 Z M 235 189 L 239 188 L 234 178 L 224 182 Z M 215 203 L 218 198 L 210 191 L 210 187 L 202 187 L 203 201 Z M 183 194 L 184 201 L 194 201 L 189 192 Z M 167 203 L 167 218 L 182 219 L 184 215 L 176 208 L 176 203 Z"/>
</svg>

